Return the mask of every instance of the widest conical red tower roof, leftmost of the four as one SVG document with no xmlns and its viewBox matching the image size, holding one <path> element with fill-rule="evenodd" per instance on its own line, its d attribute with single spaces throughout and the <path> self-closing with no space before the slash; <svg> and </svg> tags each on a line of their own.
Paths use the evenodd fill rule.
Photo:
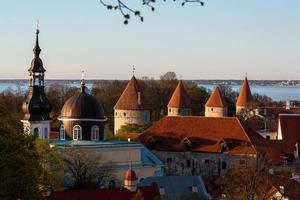
<svg viewBox="0 0 300 200">
<path fill-rule="evenodd" d="M 146 110 L 146 100 L 135 76 L 128 82 L 114 109 L 118 110 Z"/>
</svg>

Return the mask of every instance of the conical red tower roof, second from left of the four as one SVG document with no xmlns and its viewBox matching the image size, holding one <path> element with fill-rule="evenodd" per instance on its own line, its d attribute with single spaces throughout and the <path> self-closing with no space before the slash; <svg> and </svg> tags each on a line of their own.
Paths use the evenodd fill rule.
<svg viewBox="0 0 300 200">
<path fill-rule="evenodd" d="M 179 81 L 173 95 L 168 103 L 171 108 L 191 108 L 191 100 L 186 93 L 182 81 Z"/>
</svg>

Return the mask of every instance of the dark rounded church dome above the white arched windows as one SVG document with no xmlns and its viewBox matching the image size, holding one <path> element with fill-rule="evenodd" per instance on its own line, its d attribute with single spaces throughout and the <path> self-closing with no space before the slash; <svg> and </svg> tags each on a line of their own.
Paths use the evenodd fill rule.
<svg viewBox="0 0 300 200">
<path fill-rule="evenodd" d="M 102 105 L 82 91 L 69 98 L 61 110 L 61 119 L 105 119 Z"/>
</svg>

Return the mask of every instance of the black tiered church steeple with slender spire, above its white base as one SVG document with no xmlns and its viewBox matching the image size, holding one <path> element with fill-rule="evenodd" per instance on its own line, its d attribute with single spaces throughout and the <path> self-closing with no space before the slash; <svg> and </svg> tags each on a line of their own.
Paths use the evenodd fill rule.
<svg viewBox="0 0 300 200">
<path fill-rule="evenodd" d="M 39 29 L 36 29 L 36 42 L 33 49 L 34 58 L 31 61 L 31 66 L 28 69 L 30 76 L 29 92 L 26 100 L 23 102 L 24 120 L 29 121 L 44 121 L 51 120 L 49 113 L 51 105 L 44 91 L 44 76 L 45 69 L 43 61 L 40 59 L 41 48 L 39 46 Z"/>
</svg>

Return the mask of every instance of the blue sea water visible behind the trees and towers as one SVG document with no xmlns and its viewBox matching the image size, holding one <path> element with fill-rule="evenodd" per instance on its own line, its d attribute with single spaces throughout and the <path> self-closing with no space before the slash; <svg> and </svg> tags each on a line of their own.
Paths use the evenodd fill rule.
<svg viewBox="0 0 300 200">
<path fill-rule="evenodd" d="M 78 87 L 79 82 L 69 81 L 63 82 L 64 85 L 69 87 Z M 214 84 L 198 84 L 207 90 L 213 90 L 216 85 Z M 90 81 L 86 84 L 88 88 L 92 88 L 93 83 Z M 233 91 L 238 92 L 241 85 L 228 85 Z M 258 93 L 261 95 L 266 95 L 275 101 L 286 101 L 294 100 L 300 101 L 300 86 L 261 86 L 261 85 L 251 85 L 252 93 Z M 0 82 L 0 92 L 12 91 L 12 92 L 24 92 L 28 88 L 28 83 L 26 81 L 20 82 Z"/>
</svg>

